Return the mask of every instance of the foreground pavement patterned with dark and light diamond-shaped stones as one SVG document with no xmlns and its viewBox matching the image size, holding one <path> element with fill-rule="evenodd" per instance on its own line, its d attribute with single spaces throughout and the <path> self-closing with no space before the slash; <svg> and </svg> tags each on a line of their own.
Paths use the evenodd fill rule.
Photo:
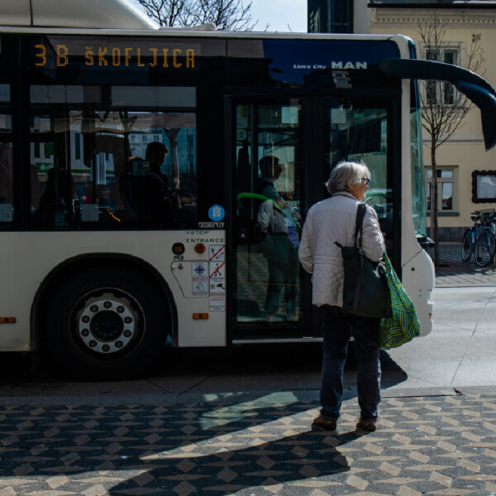
<svg viewBox="0 0 496 496">
<path fill-rule="evenodd" d="M 496 395 L 385 398 L 373 433 L 357 410 L 2 406 L 0 495 L 496 495 Z"/>
</svg>

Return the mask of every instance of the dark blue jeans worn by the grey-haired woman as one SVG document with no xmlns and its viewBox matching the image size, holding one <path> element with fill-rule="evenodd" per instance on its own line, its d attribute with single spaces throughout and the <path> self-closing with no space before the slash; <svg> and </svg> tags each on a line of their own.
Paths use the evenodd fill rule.
<svg viewBox="0 0 496 496">
<path fill-rule="evenodd" d="M 381 363 L 379 361 L 380 319 L 346 315 L 339 307 L 324 305 L 322 310 L 322 383 L 320 415 L 337 420 L 343 400 L 343 370 L 351 332 L 354 336 L 359 407 L 363 422 L 378 417 L 381 401 Z"/>
</svg>

